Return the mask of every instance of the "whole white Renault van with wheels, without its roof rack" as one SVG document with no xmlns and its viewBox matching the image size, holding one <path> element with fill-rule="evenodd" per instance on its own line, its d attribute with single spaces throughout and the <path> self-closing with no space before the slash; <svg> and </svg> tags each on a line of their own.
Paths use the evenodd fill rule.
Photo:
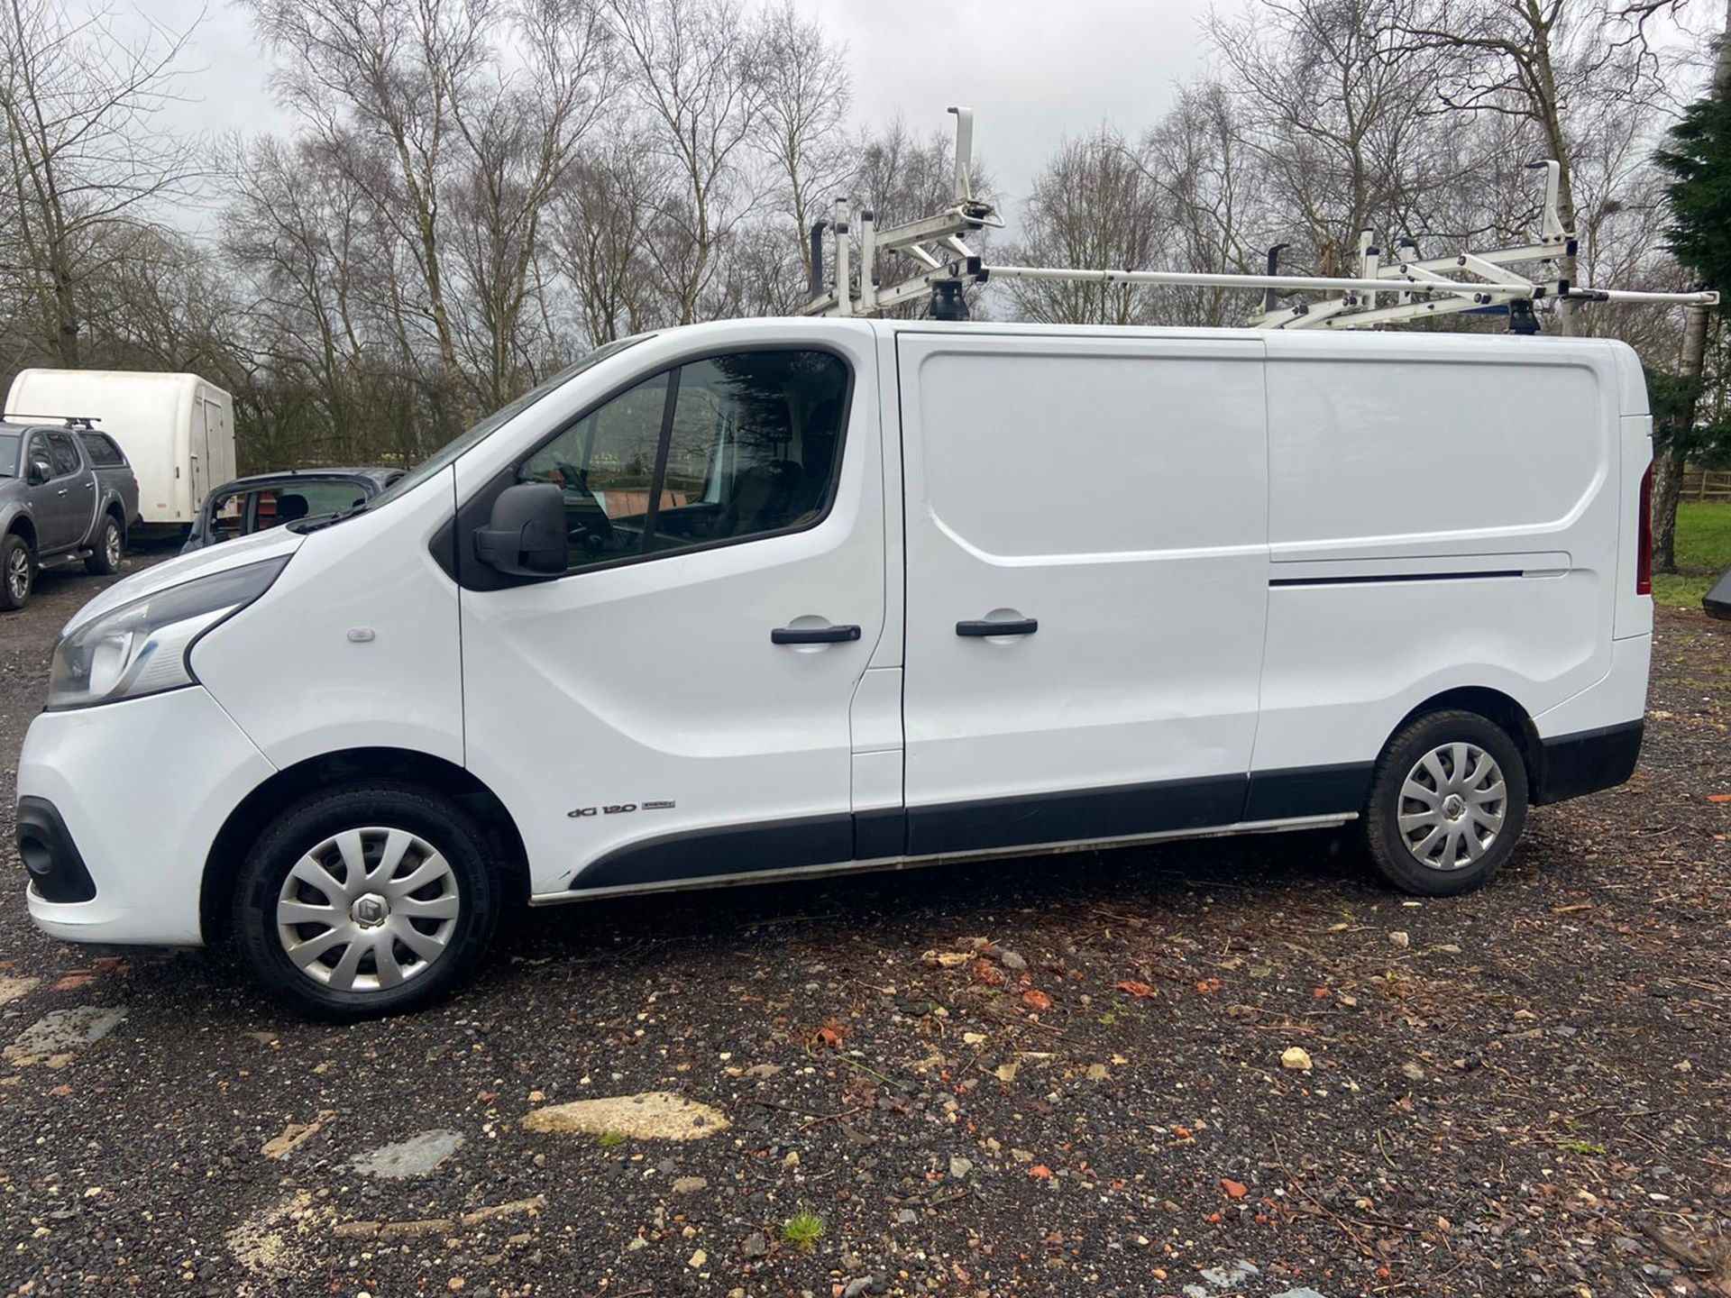
<svg viewBox="0 0 1731 1298">
<path fill-rule="evenodd" d="M 511 902 L 1362 826 L 1458 893 L 1641 742 L 1650 419 L 1598 339 L 741 320 L 68 627 L 52 935 L 353 1018 Z"/>
</svg>

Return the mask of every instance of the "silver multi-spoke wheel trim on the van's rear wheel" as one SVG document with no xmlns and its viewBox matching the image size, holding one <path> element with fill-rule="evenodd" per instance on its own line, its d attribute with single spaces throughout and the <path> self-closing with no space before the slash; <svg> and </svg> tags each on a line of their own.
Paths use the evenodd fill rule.
<svg viewBox="0 0 1731 1298">
<path fill-rule="evenodd" d="M 1496 845 L 1508 819 L 1508 784 L 1496 758 L 1471 742 L 1440 744 L 1400 784 L 1400 841 L 1430 871 L 1461 871 Z"/>
</svg>

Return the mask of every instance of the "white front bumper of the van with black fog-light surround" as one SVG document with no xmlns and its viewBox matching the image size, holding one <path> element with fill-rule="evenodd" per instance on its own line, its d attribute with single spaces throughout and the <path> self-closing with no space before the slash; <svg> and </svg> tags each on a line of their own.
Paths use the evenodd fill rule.
<svg viewBox="0 0 1731 1298">
<path fill-rule="evenodd" d="M 199 945 L 211 843 L 273 770 L 201 685 L 42 713 L 17 763 L 31 919 L 69 941 Z"/>
</svg>

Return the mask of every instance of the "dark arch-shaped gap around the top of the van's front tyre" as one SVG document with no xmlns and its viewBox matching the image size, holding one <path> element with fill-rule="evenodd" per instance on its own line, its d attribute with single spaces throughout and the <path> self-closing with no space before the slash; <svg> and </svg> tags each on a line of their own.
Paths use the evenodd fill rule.
<svg viewBox="0 0 1731 1298">
<path fill-rule="evenodd" d="M 450 798 L 488 836 L 488 848 L 505 881 L 505 900 L 530 895 L 528 853 L 516 822 L 486 784 L 454 761 L 403 748 L 351 748 L 284 767 L 253 789 L 223 820 L 204 858 L 199 886 L 199 929 L 206 945 L 228 936 L 234 881 L 248 848 L 287 806 L 341 784 L 395 781 Z"/>
</svg>

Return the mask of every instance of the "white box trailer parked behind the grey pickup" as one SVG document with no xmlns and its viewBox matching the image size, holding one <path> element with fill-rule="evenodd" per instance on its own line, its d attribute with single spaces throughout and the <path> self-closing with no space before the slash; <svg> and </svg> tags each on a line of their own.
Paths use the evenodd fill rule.
<svg viewBox="0 0 1731 1298">
<path fill-rule="evenodd" d="M 5 408 L 95 419 L 126 452 L 145 526 L 183 528 L 234 478 L 234 398 L 197 374 L 23 370 Z"/>
</svg>

